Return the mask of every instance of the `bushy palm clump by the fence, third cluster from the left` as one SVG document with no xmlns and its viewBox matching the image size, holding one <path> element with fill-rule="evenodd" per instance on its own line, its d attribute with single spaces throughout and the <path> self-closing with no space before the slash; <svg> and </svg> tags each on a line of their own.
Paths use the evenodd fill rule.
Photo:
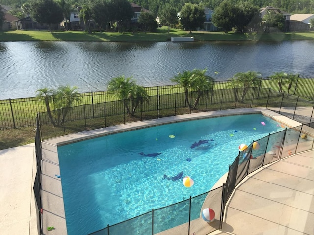
<svg viewBox="0 0 314 235">
<path fill-rule="evenodd" d="M 206 75 L 206 72 L 206 69 L 183 71 L 183 73 L 178 73 L 178 75 L 175 75 L 171 79 L 171 81 L 176 82 L 178 85 L 184 88 L 185 101 L 190 109 L 195 109 L 200 98 L 203 95 L 211 93 L 213 91 L 214 80 L 210 76 Z M 188 97 L 190 91 L 196 92 L 196 98 L 193 105 Z"/>
</svg>

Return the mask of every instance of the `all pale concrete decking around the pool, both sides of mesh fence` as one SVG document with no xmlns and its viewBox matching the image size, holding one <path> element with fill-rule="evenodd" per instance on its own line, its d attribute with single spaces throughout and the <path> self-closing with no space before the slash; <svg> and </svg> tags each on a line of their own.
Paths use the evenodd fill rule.
<svg viewBox="0 0 314 235">
<path fill-rule="evenodd" d="M 57 143 L 94 138 L 164 122 L 226 116 L 262 111 L 283 124 L 300 125 L 265 109 L 235 109 L 194 113 L 86 131 L 43 141 L 42 201 L 43 233 L 66 235 Z M 36 209 L 32 191 L 36 173 L 34 144 L 0 150 L 1 235 L 35 235 Z M 222 231 L 211 234 L 314 234 L 314 150 L 290 156 L 262 167 L 241 182 L 226 207 Z M 195 221 L 197 222 L 197 221 Z M 203 221 L 204 222 L 204 221 Z M 199 226 L 210 226 L 202 221 Z M 47 227 L 54 230 L 47 231 Z M 172 235 L 181 235 L 180 228 Z M 169 231 L 170 232 L 170 231 Z M 193 233 L 193 231 L 191 231 Z M 162 233 L 166 235 L 167 233 Z M 203 232 L 202 232 L 203 234 Z"/>
</svg>

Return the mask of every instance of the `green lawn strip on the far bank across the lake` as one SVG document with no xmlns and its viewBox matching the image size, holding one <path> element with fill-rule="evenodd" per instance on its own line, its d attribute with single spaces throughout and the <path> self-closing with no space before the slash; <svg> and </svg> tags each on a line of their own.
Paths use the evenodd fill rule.
<svg viewBox="0 0 314 235">
<path fill-rule="evenodd" d="M 264 33 L 247 37 L 239 33 L 183 31 L 167 27 L 157 29 L 156 33 L 142 32 L 93 32 L 88 34 L 82 31 L 28 31 L 11 30 L 1 31 L 0 41 L 170 41 L 171 37 L 194 37 L 196 41 L 284 41 L 284 40 L 314 40 L 314 32 Z"/>
</svg>

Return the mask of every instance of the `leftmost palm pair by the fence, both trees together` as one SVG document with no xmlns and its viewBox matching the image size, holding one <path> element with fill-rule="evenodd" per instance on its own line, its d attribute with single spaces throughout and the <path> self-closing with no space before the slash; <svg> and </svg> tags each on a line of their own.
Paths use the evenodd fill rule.
<svg viewBox="0 0 314 235">
<path fill-rule="evenodd" d="M 79 103 L 81 101 L 81 97 L 75 86 L 70 87 L 69 85 L 61 85 L 57 90 L 44 87 L 37 90 L 36 93 L 38 100 L 45 103 L 48 117 L 51 120 L 52 125 L 55 127 L 64 122 L 64 118 L 70 111 L 70 107 L 73 106 L 75 102 Z"/>
</svg>

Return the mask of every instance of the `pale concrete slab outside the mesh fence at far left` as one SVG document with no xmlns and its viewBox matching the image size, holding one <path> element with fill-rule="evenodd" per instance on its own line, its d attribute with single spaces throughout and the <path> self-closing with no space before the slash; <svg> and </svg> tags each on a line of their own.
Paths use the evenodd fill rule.
<svg viewBox="0 0 314 235">
<path fill-rule="evenodd" d="M 0 234 L 36 235 L 34 144 L 0 150 Z"/>
</svg>

